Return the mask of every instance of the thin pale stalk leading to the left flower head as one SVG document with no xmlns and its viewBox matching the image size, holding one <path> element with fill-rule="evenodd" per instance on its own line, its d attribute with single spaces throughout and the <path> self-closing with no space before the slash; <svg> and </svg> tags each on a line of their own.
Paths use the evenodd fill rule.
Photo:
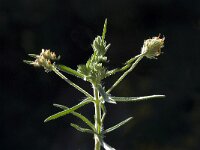
<svg viewBox="0 0 200 150">
<path fill-rule="evenodd" d="M 85 91 L 84 89 L 82 89 L 80 86 L 78 86 L 77 84 L 75 84 L 74 82 L 72 82 L 71 80 L 69 80 L 67 77 L 65 77 L 60 71 L 58 71 L 58 69 L 56 69 L 56 67 L 53 67 L 52 69 L 59 77 L 61 77 L 63 80 L 65 80 L 67 83 L 69 83 L 71 86 L 73 86 L 74 88 L 76 88 L 77 90 L 79 90 L 81 93 L 85 94 L 85 96 L 93 98 L 92 95 L 90 95 L 87 91 Z"/>
</svg>

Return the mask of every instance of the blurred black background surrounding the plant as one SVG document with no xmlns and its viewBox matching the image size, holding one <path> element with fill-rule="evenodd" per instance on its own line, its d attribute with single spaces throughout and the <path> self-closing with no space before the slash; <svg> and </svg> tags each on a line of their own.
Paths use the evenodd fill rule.
<svg viewBox="0 0 200 150">
<path fill-rule="evenodd" d="M 0 0 L 2 150 L 90 150 L 93 137 L 70 127 L 68 115 L 44 124 L 84 96 L 53 73 L 22 62 L 50 48 L 76 68 L 92 53 L 90 44 L 108 18 L 110 69 L 140 53 L 143 40 L 166 37 L 164 54 L 144 59 L 112 95 L 165 94 L 165 100 L 107 105 L 105 127 L 134 116 L 108 134 L 117 150 L 198 150 L 200 147 L 200 1 L 184 0 Z M 119 75 L 117 75 L 119 76 Z M 69 77 L 91 91 L 90 85 Z M 108 88 L 117 77 L 105 81 Z M 109 81 L 109 83 L 108 83 Z M 92 105 L 82 113 L 92 118 Z"/>
</svg>

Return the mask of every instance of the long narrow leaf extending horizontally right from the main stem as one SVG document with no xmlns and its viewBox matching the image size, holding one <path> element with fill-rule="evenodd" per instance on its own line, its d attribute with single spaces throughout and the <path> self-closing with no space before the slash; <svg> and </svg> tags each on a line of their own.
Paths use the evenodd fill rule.
<svg viewBox="0 0 200 150">
<path fill-rule="evenodd" d="M 153 98 L 164 98 L 165 95 L 150 95 L 150 96 L 141 96 L 141 97 L 111 97 L 116 102 L 137 102 L 144 101 Z"/>
</svg>

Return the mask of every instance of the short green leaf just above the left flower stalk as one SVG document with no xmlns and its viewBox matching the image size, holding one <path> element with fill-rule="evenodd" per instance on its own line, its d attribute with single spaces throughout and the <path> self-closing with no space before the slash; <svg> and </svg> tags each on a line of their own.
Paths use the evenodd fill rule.
<svg viewBox="0 0 200 150">
<path fill-rule="evenodd" d="M 68 74 L 71 74 L 71 75 L 74 75 L 74 76 L 79 77 L 81 79 L 84 79 L 83 74 L 81 74 L 81 73 L 77 72 L 76 70 L 73 70 L 73 69 L 71 69 L 71 68 L 69 68 L 65 65 L 56 65 L 56 67 L 63 72 L 66 72 Z"/>
</svg>

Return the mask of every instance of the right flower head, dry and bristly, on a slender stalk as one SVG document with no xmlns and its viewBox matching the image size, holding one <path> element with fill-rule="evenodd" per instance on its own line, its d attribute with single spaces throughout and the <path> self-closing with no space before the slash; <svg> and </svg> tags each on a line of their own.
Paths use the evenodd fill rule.
<svg viewBox="0 0 200 150">
<path fill-rule="evenodd" d="M 160 35 L 144 41 L 141 54 L 144 54 L 149 59 L 156 59 L 161 54 L 161 48 L 164 47 L 165 37 L 160 38 Z"/>
</svg>

